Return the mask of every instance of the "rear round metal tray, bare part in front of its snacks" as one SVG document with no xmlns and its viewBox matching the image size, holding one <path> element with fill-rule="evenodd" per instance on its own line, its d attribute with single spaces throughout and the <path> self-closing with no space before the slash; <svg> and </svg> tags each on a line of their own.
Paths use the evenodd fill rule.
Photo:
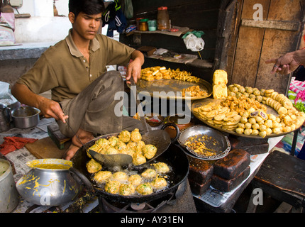
<svg viewBox="0 0 305 227">
<path fill-rule="evenodd" d="M 139 79 L 136 85 L 137 92 L 148 92 L 150 96 L 161 99 L 205 99 L 211 96 L 213 92 L 211 84 L 204 79 L 199 79 L 198 83 L 179 79 L 157 79 L 153 81 Z M 183 97 L 177 93 L 182 92 L 182 89 L 187 89 L 192 86 L 199 86 L 199 89 L 206 92 L 206 94 L 204 96 Z M 128 87 L 130 87 L 130 84 L 128 84 Z"/>
</svg>

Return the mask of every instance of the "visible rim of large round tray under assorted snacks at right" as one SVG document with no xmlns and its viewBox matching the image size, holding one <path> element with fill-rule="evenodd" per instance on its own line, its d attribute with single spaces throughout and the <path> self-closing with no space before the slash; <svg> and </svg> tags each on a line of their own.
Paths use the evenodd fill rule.
<svg viewBox="0 0 305 227">
<path fill-rule="evenodd" d="M 214 102 L 215 104 L 220 104 L 221 101 L 223 101 L 223 99 L 202 99 L 202 100 L 196 100 L 192 103 L 192 107 L 191 107 L 191 111 L 192 114 L 194 114 L 194 116 L 196 116 L 196 118 L 198 118 L 200 121 L 202 121 L 203 123 L 205 123 L 207 126 L 210 126 L 212 128 L 215 128 L 219 131 L 225 132 L 225 133 L 230 133 L 231 135 L 237 135 L 240 137 L 245 137 L 245 138 L 259 138 L 262 139 L 262 137 L 260 135 L 245 135 L 245 134 L 240 134 L 240 133 L 236 133 L 235 131 L 231 131 L 225 128 L 221 128 L 218 126 L 215 126 L 212 123 L 209 123 L 209 121 L 206 121 L 206 119 L 202 118 L 202 116 L 200 116 L 200 114 L 198 114 L 196 111 L 194 111 L 194 109 L 200 107 L 200 106 L 204 106 L 206 104 L 209 104 L 211 102 Z M 263 104 L 264 105 L 264 104 Z M 270 106 L 267 106 L 267 114 L 274 114 L 275 116 L 279 116 L 279 114 L 277 113 L 277 111 L 275 111 L 275 109 L 272 109 Z M 277 137 L 277 136 L 281 136 L 281 135 L 286 135 L 289 132 L 284 132 L 284 133 L 271 133 L 270 135 L 266 135 L 265 138 L 272 138 L 272 137 Z"/>
</svg>

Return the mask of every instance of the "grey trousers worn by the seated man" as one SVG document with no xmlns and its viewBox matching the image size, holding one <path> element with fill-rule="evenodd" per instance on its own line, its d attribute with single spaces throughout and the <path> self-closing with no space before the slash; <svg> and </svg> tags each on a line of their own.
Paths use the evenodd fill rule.
<svg viewBox="0 0 305 227">
<path fill-rule="evenodd" d="M 61 133 L 72 138 L 79 128 L 100 135 L 132 131 L 134 128 L 143 131 L 141 121 L 129 116 L 116 116 L 114 113 L 119 101 L 114 96 L 123 89 L 121 74 L 109 71 L 94 80 L 74 99 L 61 101 L 62 110 L 69 116 L 66 121 L 72 128 L 71 130 L 67 123 L 57 121 Z"/>
</svg>

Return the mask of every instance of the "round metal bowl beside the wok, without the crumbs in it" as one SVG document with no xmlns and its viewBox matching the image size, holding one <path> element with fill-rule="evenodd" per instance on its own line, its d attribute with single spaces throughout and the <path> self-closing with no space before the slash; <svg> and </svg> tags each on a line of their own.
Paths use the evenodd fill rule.
<svg viewBox="0 0 305 227">
<path fill-rule="evenodd" d="M 205 144 L 206 148 L 216 152 L 216 155 L 196 153 L 192 148 L 185 145 L 187 140 L 193 136 L 202 136 L 201 141 Z M 218 160 L 228 155 L 231 150 L 231 143 L 225 135 L 213 128 L 201 125 L 191 126 L 182 130 L 178 142 L 183 148 L 187 149 L 189 153 L 192 153 L 192 155 L 202 160 Z"/>
</svg>

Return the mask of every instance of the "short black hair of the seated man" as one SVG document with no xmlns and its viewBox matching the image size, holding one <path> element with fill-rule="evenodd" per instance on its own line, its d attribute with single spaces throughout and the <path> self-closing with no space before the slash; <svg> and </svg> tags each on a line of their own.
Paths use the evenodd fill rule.
<svg viewBox="0 0 305 227">
<path fill-rule="evenodd" d="M 69 0 L 69 12 L 74 13 L 75 18 L 82 12 L 88 15 L 104 13 L 103 0 Z"/>
</svg>

